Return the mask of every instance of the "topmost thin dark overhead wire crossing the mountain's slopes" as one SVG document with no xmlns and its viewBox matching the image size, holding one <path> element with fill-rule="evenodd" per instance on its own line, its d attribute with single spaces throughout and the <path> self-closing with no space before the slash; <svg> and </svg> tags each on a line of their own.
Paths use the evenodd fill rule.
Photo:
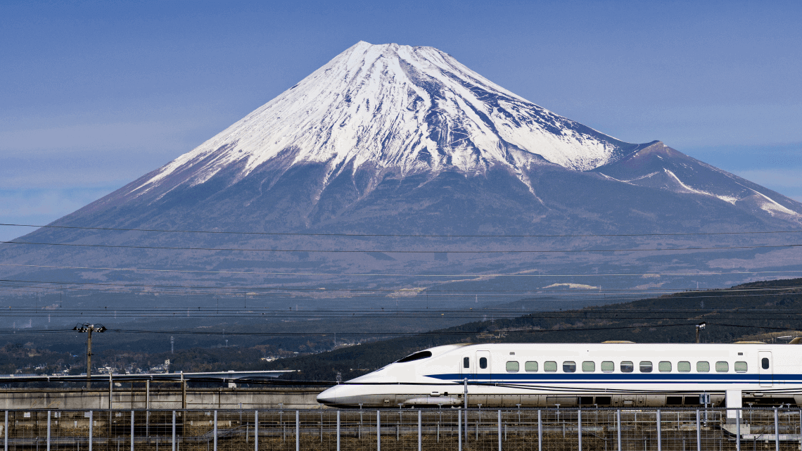
<svg viewBox="0 0 802 451">
<path fill-rule="evenodd" d="M 748 235 L 748 234 L 799 234 L 802 230 L 770 230 L 747 232 L 695 232 L 695 233 L 666 233 L 666 234 L 324 234 L 324 233 L 296 233 L 296 232 L 237 232 L 229 230 L 168 230 L 168 229 L 125 229 L 120 227 L 80 227 L 77 225 L 32 225 L 32 224 L 2 224 L 11 227 L 34 227 L 47 229 L 74 229 L 74 230 L 111 230 L 119 232 L 159 232 L 178 234 L 231 234 L 231 235 L 274 235 L 274 236 L 302 236 L 302 237 L 397 237 L 397 238 L 588 238 L 588 237 L 669 237 L 669 236 L 699 236 L 699 235 Z"/>
</svg>

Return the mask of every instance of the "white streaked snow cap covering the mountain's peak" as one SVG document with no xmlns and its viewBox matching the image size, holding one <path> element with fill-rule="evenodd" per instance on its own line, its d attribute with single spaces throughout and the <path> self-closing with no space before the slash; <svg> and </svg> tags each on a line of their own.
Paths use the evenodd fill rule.
<svg viewBox="0 0 802 451">
<path fill-rule="evenodd" d="M 502 165 L 589 170 L 634 151 L 505 90 L 434 47 L 360 41 L 191 152 L 153 173 L 197 185 L 237 166 L 247 176 L 279 155 L 292 165 L 374 165 L 404 174 Z"/>
</svg>

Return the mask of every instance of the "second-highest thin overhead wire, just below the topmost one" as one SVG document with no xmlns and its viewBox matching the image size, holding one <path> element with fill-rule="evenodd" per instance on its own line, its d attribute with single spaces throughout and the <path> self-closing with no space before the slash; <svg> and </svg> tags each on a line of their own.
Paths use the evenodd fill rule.
<svg viewBox="0 0 802 451">
<path fill-rule="evenodd" d="M 110 244 L 82 244 L 82 243 L 61 243 L 61 242 L 18 242 L 0 241 L 0 244 L 25 244 L 34 246 L 70 246 L 70 247 L 102 247 L 111 249 L 148 249 L 148 250 L 216 250 L 216 251 L 240 251 L 240 252 L 303 252 L 303 253 L 322 253 L 322 254 L 565 254 L 582 252 L 658 252 L 664 250 L 734 250 L 734 249 L 765 249 L 778 247 L 800 247 L 802 244 L 776 244 L 758 246 L 713 246 L 713 247 L 662 247 L 648 249 L 557 249 L 557 250 L 354 250 L 354 249 L 246 249 L 237 247 L 183 247 L 183 246 L 131 246 L 131 245 L 110 245 Z"/>
</svg>

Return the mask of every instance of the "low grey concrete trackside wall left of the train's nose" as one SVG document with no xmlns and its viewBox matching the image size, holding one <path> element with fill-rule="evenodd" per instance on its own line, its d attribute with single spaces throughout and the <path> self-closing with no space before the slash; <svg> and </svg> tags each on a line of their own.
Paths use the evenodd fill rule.
<svg viewBox="0 0 802 451">
<path fill-rule="evenodd" d="M 180 388 L 115 387 L 111 408 L 182 408 L 183 393 Z M 234 408 L 322 408 L 315 400 L 319 389 L 293 388 L 188 388 L 186 408 L 234 409 Z M 146 400 L 149 397 L 149 405 Z M 240 405 L 241 404 L 241 405 Z M 81 388 L 6 388 L 0 390 L 0 410 L 5 409 L 105 409 L 109 408 L 108 389 Z"/>
</svg>

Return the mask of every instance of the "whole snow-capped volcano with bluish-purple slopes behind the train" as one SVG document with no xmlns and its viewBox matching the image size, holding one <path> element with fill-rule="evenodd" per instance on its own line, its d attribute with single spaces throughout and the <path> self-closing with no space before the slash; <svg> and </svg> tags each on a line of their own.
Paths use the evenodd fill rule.
<svg viewBox="0 0 802 451">
<path fill-rule="evenodd" d="M 248 234 L 40 229 L 15 241 L 81 246 L 3 245 L 0 272 L 399 289 L 468 279 L 510 286 L 501 273 L 626 270 L 632 277 L 620 286 L 642 285 L 645 274 L 664 274 L 647 282 L 670 286 L 687 282 L 672 272 L 727 273 L 705 279 L 717 285 L 798 259 L 750 247 L 752 235 L 704 234 L 800 224 L 799 202 L 660 141 L 630 144 L 558 116 L 443 51 L 360 42 L 191 152 L 52 224 Z M 98 244 L 124 247 L 90 246 Z M 666 251 L 687 247 L 704 249 Z M 579 252 L 589 249 L 607 252 Z"/>
</svg>

